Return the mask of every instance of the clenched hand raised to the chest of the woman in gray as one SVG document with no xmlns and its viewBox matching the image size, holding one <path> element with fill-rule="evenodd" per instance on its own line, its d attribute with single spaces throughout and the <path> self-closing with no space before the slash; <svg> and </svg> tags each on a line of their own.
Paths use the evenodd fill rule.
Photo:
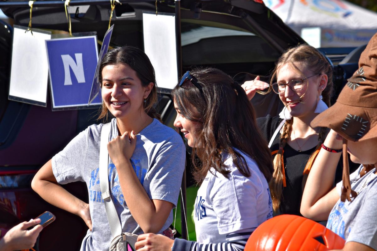
<svg viewBox="0 0 377 251">
<path fill-rule="evenodd" d="M 121 136 L 116 136 L 109 143 L 107 143 L 107 151 L 113 163 L 123 162 L 124 158 L 129 160 L 135 151 L 136 147 L 136 135 L 133 131 L 124 132 Z"/>
</svg>

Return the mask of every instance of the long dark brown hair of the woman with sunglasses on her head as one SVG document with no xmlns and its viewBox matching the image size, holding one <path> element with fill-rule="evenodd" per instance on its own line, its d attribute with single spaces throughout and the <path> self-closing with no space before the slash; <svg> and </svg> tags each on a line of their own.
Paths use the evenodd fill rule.
<svg viewBox="0 0 377 251">
<path fill-rule="evenodd" d="M 256 117 L 245 91 L 233 79 L 216 68 L 191 71 L 202 91 L 186 80 L 176 86 L 172 97 L 183 117 L 198 123 L 193 148 L 194 177 L 201 183 L 213 167 L 228 177 L 221 153 L 228 153 L 238 170 L 250 176 L 244 157 L 234 148 L 253 158 L 267 181 L 273 166 L 270 149 L 256 125 Z M 195 161 L 195 154 L 201 163 Z"/>
</svg>

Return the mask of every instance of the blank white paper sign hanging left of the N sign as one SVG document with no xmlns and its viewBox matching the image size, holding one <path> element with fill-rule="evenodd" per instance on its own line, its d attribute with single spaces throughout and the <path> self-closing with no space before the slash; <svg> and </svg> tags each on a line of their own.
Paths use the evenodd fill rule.
<svg viewBox="0 0 377 251">
<path fill-rule="evenodd" d="M 51 32 L 14 26 L 9 99 L 46 106 L 48 61 L 45 40 Z"/>
</svg>

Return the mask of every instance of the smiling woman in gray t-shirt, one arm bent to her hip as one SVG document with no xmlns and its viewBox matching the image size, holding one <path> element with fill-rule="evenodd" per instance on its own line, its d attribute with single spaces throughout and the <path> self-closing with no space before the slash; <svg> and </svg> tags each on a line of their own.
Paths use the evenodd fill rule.
<svg viewBox="0 0 377 251">
<path fill-rule="evenodd" d="M 185 148 L 179 134 L 163 125 L 153 108 L 157 100 L 153 66 L 143 51 L 117 47 L 104 56 L 98 77 L 103 99 L 100 119 L 112 117 L 105 136 L 109 164 L 104 168 L 110 203 L 121 223 L 119 234 L 169 235 L 185 168 Z M 43 199 L 86 223 L 89 230 L 80 249 L 84 251 L 109 250 L 113 239 L 99 174 L 103 126 L 91 125 L 80 132 L 32 181 L 32 188 Z M 74 181 L 86 183 L 89 203 L 60 186 Z"/>
</svg>

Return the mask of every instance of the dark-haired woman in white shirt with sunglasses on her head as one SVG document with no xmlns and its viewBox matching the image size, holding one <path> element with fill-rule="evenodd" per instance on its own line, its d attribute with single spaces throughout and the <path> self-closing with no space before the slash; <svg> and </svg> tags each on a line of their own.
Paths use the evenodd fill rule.
<svg viewBox="0 0 377 251">
<path fill-rule="evenodd" d="M 240 85 L 221 70 L 187 72 L 172 91 L 174 125 L 193 148 L 197 242 L 155 234 L 137 250 L 244 250 L 254 229 L 272 217 L 268 181 L 273 166 L 255 112 Z M 257 142 L 257 143 L 256 143 Z M 194 160 L 198 156 L 201 163 Z"/>
</svg>

